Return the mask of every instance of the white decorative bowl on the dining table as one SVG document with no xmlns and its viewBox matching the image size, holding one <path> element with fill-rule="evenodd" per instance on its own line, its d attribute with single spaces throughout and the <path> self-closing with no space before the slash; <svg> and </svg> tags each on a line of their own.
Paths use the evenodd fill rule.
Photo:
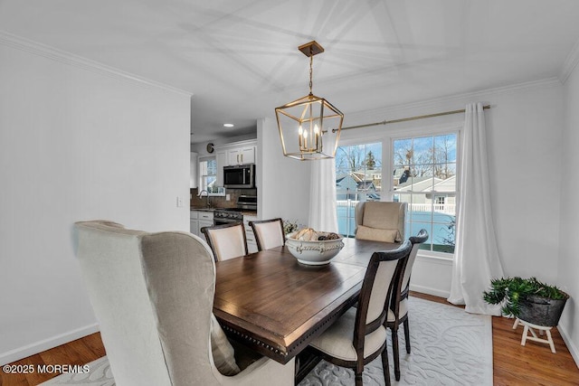
<svg viewBox="0 0 579 386">
<path fill-rule="evenodd" d="M 344 239 L 340 236 L 334 240 L 296 240 L 294 237 L 298 232 L 289 233 L 286 236 L 286 247 L 294 258 L 301 264 L 308 266 L 321 266 L 329 264 L 339 251 L 344 248 Z M 327 236 L 329 232 L 317 232 L 318 236 Z"/>
</svg>

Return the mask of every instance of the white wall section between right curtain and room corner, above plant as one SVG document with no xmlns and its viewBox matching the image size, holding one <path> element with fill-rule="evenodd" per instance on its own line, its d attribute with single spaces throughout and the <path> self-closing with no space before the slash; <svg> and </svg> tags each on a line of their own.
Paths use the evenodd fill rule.
<svg viewBox="0 0 579 386">
<path fill-rule="evenodd" d="M 560 84 L 489 96 L 491 200 L 507 276 L 556 282 L 563 131 Z"/>
</svg>

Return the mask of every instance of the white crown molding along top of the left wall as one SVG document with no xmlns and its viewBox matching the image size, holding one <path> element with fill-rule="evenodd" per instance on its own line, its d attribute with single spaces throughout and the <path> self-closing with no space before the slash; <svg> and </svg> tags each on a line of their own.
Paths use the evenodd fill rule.
<svg viewBox="0 0 579 386">
<path fill-rule="evenodd" d="M 168 86 L 164 83 L 160 83 L 155 80 L 147 80 L 145 78 L 133 75 L 126 71 L 115 69 L 98 61 L 91 61 L 90 59 L 83 58 L 71 52 L 65 52 L 57 48 L 51 47 L 49 45 L 45 45 L 40 42 L 34 42 L 25 39 L 22 36 L 17 36 L 12 33 L 7 33 L 1 30 L 0 30 L 0 44 L 24 52 L 32 53 L 34 55 L 43 56 L 44 58 L 50 59 L 52 61 L 60 61 L 64 64 L 79 68 L 81 70 L 106 75 L 109 76 L 110 78 L 114 78 L 117 80 L 124 80 L 134 84 L 138 84 L 140 86 L 147 86 L 155 89 L 163 89 L 176 94 L 184 95 L 189 98 L 193 96 L 192 92 L 185 91 L 185 89 L 178 89 L 176 87 Z"/>
</svg>

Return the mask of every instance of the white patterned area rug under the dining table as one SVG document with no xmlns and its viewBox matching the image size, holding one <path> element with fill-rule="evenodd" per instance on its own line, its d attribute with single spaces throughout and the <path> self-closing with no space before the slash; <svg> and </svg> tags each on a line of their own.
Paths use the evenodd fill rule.
<svg viewBox="0 0 579 386">
<path fill-rule="evenodd" d="M 391 334 L 388 334 L 390 376 L 394 385 L 492 385 L 492 322 L 490 316 L 410 297 L 412 353 L 400 339 L 400 381 L 394 380 Z M 390 331 L 389 331 L 390 333 Z M 43 384 L 114 386 L 107 357 L 90 362 L 86 374 L 62 374 Z M 299 386 L 353 385 L 354 372 L 319 362 Z M 365 367 L 365 386 L 384 385 L 382 362 Z"/>
</svg>

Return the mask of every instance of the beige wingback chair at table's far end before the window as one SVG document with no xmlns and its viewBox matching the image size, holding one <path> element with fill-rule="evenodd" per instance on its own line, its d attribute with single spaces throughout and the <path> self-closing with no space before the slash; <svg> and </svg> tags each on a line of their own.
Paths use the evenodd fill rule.
<svg viewBox="0 0 579 386">
<path fill-rule="evenodd" d="M 406 206 L 406 202 L 358 202 L 355 208 L 356 239 L 402 242 Z"/>
</svg>

